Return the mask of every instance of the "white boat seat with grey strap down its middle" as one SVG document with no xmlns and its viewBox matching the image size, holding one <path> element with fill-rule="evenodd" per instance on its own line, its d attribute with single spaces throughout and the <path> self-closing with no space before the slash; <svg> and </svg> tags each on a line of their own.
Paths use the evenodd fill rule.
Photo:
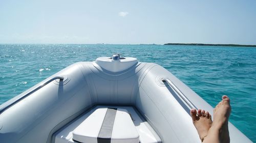
<svg viewBox="0 0 256 143">
<path fill-rule="evenodd" d="M 139 143 L 139 133 L 126 109 L 98 108 L 73 131 L 73 140 L 87 143 Z"/>
</svg>

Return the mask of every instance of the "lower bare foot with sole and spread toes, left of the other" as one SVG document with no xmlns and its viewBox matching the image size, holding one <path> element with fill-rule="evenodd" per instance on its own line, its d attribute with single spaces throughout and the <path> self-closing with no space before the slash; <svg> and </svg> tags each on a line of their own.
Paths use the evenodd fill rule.
<svg viewBox="0 0 256 143">
<path fill-rule="evenodd" d="M 198 109 L 198 111 L 196 111 L 196 109 L 191 109 L 190 116 L 201 141 L 203 141 L 204 137 L 207 136 L 208 130 L 212 124 L 211 115 L 205 110 Z"/>
</svg>

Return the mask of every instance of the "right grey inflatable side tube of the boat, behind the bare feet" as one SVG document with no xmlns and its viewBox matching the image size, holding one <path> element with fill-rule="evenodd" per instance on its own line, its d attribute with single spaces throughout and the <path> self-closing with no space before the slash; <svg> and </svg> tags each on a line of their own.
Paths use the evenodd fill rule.
<svg viewBox="0 0 256 143">
<path fill-rule="evenodd" d="M 164 84 L 168 78 L 198 108 L 213 108 L 183 82 L 161 66 L 153 67 L 140 84 L 136 107 L 150 123 L 163 142 L 201 142 L 189 115 L 190 108 L 181 97 Z M 251 142 L 242 132 L 229 123 L 230 142 Z"/>
</svg>

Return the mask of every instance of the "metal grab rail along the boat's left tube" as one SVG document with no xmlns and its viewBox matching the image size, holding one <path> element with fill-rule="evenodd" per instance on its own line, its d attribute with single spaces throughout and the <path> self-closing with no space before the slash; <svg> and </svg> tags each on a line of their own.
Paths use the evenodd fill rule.
<svg viewBox="0 0 256 143">
<path fill-rule="evenodd" d="M 41 83 L 38 87 L 34 88 L 33 90 L 31 90 L 30 92 L 26 93 L 25 95 L 15 99 L 13 102 L 9 103 L 8 105 L 6 105 L 4 108 L 0 109 L 0 115 L 9 107 L 11 107 L 12 105 L 16 104 L 17 102 L 19 102 L 20 100 L 26 98 L 27 96 L 29 96 L 30 94 L 36 92 L 37 90 L 41 89 L 42 87 L 44 87 L 45 85 L 47 85 L 48 83 L 52 82 L 55 79 L 59 79 L 60 81 L 63 81 L 64 77 L 62 76 L 55 76 L 49 80 L 47 80 L 44 83 Z"/>
</svg>

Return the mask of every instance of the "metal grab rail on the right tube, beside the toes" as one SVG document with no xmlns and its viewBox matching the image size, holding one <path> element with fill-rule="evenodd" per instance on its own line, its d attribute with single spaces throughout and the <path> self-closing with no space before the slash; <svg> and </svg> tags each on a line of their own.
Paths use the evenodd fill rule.
<svg viewBox="0 0 256 143">
<path fill-rule="evenodd" d="M 178 95 L 187 103 L 187 105 L 190 107 L 190 109 L 194 108 L 197 109 L 197 107 L 176 87 L 176 85 L 170 81 L 168 78 L 163 78 L 163 82 L 167 82 L 177 93 Z"/>
</svg>

